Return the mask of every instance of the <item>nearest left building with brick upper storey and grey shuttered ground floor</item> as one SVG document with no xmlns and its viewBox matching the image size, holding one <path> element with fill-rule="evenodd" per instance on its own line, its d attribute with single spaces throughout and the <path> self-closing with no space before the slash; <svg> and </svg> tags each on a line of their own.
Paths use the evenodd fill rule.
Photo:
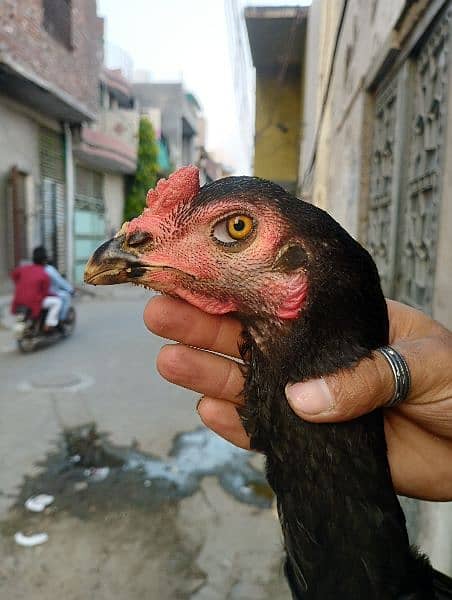
<svg viewBox="0 0 452 600">
<path fill-rule="evenodd" d="M 2 288 L 38 243 L 61 271 L 70 260 L 71 135 L 95 117 L 102 21 L 94 0 L 60 4 L 0 4 Z"/>
</svg>

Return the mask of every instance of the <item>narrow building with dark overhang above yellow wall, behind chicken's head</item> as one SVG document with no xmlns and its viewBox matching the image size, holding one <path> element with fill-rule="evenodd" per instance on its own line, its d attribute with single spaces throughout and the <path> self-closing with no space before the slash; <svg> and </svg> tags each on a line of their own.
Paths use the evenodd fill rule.
<svg viewBox="0 0 452 600">
<path fill-rule="evenodd" d="M 307 17 L 299 7 L 245 9 L 256 72 L 254 174 L 291 192 L 298 182 Z"/>
</svg>

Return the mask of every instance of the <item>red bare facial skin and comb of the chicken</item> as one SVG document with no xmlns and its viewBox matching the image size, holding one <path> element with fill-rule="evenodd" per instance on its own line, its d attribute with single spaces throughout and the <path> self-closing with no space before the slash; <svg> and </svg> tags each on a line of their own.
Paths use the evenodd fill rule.
<svg viewBox="0 0 452 600">
<path fill-rule="evenodd" d="M 191 200 L 198 189 L 197 169 L 181 169 L 167 182 L 159 182 L 148 194 L 148 208 L 122 227 L 124 250 L 144 265 L 162 267 L 146 271 L 137 282 L 211 314 L 241 312 L 279 321 L 297 318 L 306 299 L 306 274 L 273 268 L 290 240 L 284 220 L 265 203 L 241 198 L 193 209 Z M 226 246 L 215 239 L 214 229 L 234 215 L 251 217 L 254 230 L 247 239 Z M 127 238 L 137 231 L 151 234 L 153 242 L 127 248 Z"/>
</svg>

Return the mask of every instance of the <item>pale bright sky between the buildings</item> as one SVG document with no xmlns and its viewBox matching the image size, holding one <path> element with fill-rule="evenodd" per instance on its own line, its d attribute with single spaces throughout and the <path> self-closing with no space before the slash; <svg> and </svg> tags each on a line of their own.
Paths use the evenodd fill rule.
<svg viewBox="0 0 452 600">
<path fill-rule="evenodd" d="M 237 0 L 240 5 L 306 5 L 305 0 Z M 97 0 L 107 42 L 152 81 L 182 81 L 207 119 L 207 149 L 234 174 L 249 174 L 240 132 L 224 0 Z M 253 73 L 250 72 L 252 80 Z"/>
</svg>

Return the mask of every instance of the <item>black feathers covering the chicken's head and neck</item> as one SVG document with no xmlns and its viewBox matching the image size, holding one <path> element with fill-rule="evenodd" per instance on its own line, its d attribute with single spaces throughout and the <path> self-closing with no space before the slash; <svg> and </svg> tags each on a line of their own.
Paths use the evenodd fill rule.
<svg viewBox="0 0 452 600">
<path fill-rule="evenodd" d="M 302 241 L 279 267 L 303 265 L 309 274 L 306 305 L 290 327 L 239 315 L 246 364 L 240 415 L 252 447 L 267 456 L 293 597 L 452 598 L 452 581 L 410 548 L 382 411 L 313 424 L 297 417 L 285 399 L 289 381 L 351 369 L 388 343 L 387 307 L 372 258 L 327 213 L 265 180 L 225 178 L 203 187 L 194 202 L 199 207 L 228 197 L 279 211 Z"/>
</svg>

